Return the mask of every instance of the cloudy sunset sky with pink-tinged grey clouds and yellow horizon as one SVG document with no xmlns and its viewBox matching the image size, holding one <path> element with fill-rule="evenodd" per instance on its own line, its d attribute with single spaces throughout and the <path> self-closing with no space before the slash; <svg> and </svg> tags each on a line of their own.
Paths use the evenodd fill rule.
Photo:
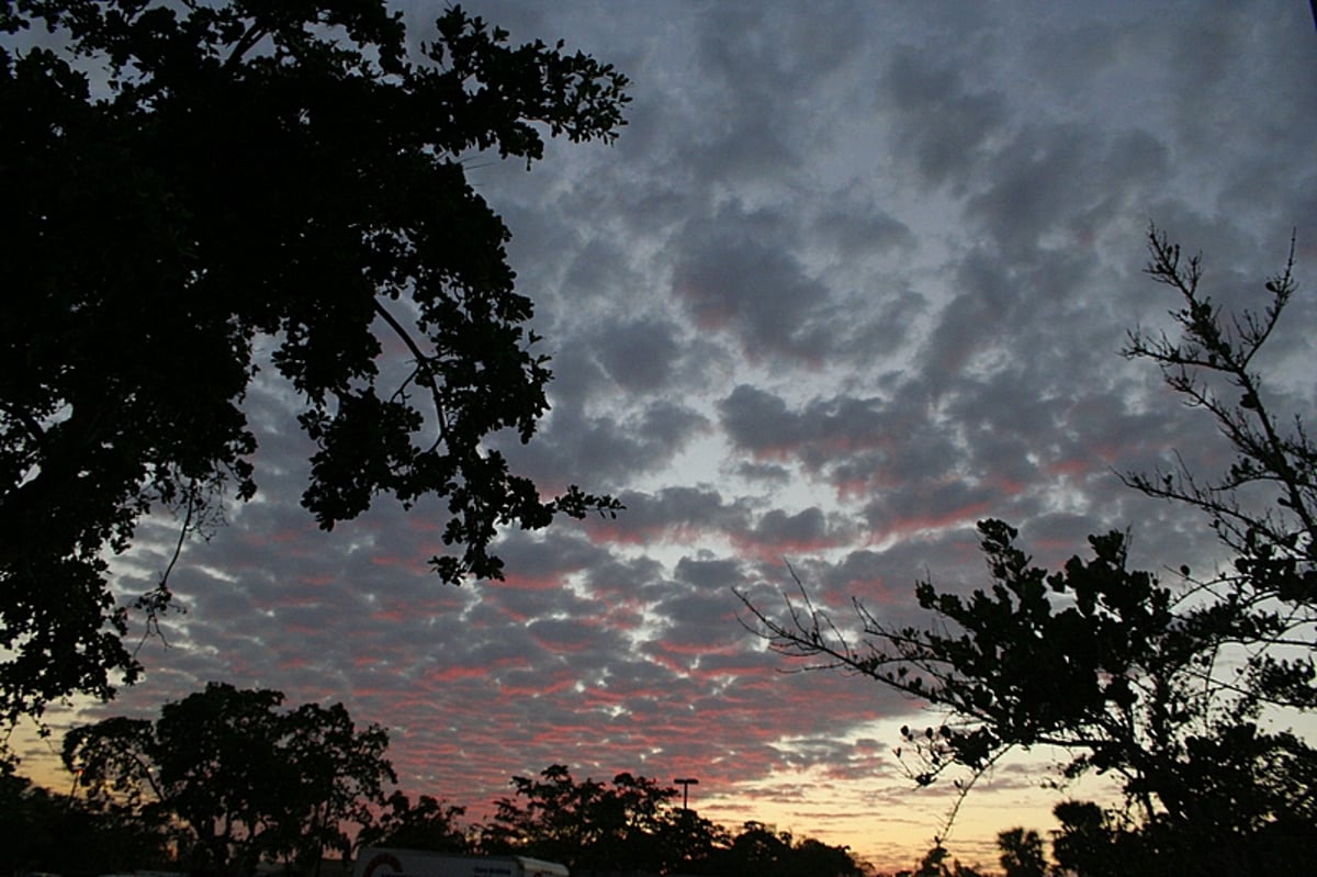
<svg viewBox="0 0 1317 877">
<path fill-rule="evenodd" d="M 396 5 L 415 38 L 441 11 Z M 141 644 L 145 679 L 57 728 L 154 715 L 211 679 L 274 687 L 387 727 L 402 787 L 473 819 L 551 764 L 697 777 L 691 806 L 715 822 L 909 865 L 955 797 L 913 787 L 896 728 L 936 718 L 792 672 L 735 591 L 776 611 L 790 565 L 839 618 L 853 595 L 918 620 L 917 579 L 985 582 L 984 518 L 1043 564 L 1112 528 L 1143 568 L 1210 562 L 1202 519 L 1117 473 L 1175 452 L 1214 471 L 1226 448 L 1119 352 L 1175 306 L 1142 274 L 1150 223 L 1202 252 L 1226 306 L 1262 302 L 1295 233 L 1304 292 L 1263 367 L 1277 408 L 1310 411 L 1309 4 L 464 7 L 633 83 L 612 146 L 554 142 L 531 173 L 468 159 L 556 373 L 539 435 L 508 453 L 547 491 L 578 483 L 626 512 L 507 533 L 507 581 L 444 586 L 425 564 L 435 506 L 386 499 L 316 529 L 295 399 L 262 375 L 259 494 L 187 545 L 171 578 L 187 611 Z M 119 558 L 125 591 L 165 568 L 170 527 L 146 523 Z M 992 865 L 998 831 L 1055 827 L 1060 757 L 998 766 L 951 852 Z"/>
</svg>

